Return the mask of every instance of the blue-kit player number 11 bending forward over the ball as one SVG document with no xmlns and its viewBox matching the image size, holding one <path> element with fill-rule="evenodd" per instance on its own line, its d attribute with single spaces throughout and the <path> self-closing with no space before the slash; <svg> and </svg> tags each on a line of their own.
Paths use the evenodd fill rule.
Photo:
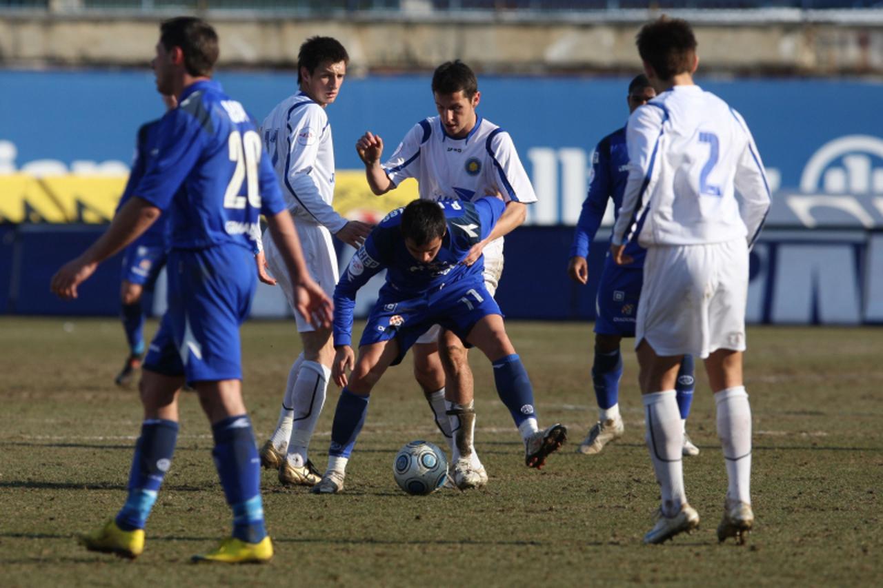
<svg viewBox="0 0 883 588">
<path fill-rule="evenodd" d="M 533 390 L 525 366 L 509 342 L 500 307 L 485 286 L 483 259 L 463 260 L 487 238 L 504 214 L 502 199 L 485 197 L 474 203 L 460 200 L 414 200 L 398 208 L 368 236 L 350 261 L 335 289 L 332 376 L 343 386 L 328 450 L 328 470 L 313 486 L 315 494 L 343 490 L 345 468 L 365 422 L 374 385 L 427 328 L 435 324 L 479 348 L 494 364 L 494 381 L 510 410 L 533 406 Z M 368 315 L 358 347 L 351 348 L 352 309 L 356 292 L 371 276 L 386 269 L 386 284 Z M 348 377 L 346 371 L 352 370 Z M 525 411 L 526 412 L 526 411 Z M 535 418 L 533 411 L 530 411 Z M 526 416 L 526 415 L 525 415 Z M 458 442 L 464 437 L 459 436 Z M 525 460 L 540 467 L 560 443 L 555 435 L 534 435 Z M 461 447 L 461 455 L 466 448 Z"/>
</svg>

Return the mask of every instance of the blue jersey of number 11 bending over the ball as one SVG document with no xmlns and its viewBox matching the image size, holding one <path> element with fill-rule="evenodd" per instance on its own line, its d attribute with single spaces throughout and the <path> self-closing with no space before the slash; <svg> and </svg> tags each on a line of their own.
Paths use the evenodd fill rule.
<svg viewBox="0 0 883 588">
<path fill-rule="evenodd" d="M 484 256 L 472 266 L 460 263 L 472 245 L 487 237 L 506 205 L 493 197 L 475 202 L 439 200 L 448 221 L 442 248 L 435 259 L 421 263 L 408 253 L 400 230 L 404 208 L 393 210 L 374 227 L 365 245 L 352 256 L 334 291 L 335 345 L 349 345 L 356 292 L 382 269 L 387 270 L 381 300 L 393 303 L 425 297 L 446 285 L 470 278 L 483 283 Z"/>
</svg>

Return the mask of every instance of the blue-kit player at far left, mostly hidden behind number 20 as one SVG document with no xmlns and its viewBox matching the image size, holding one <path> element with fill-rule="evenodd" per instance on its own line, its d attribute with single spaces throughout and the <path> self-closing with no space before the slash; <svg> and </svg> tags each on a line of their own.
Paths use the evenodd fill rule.
<svg viewBox="0 0 883 588">
<path fill-rule="evenodd" d="M 177 106 L 175 96 L 162 96 L 166 109 Z M 142 124 L 138 130 L 138 141 L 135 145 L 135 158 L 132 161 L 132 172 L 125 184 L 123 195 L 117 204 L 117 210 L 125 206 L 132 198 L 132 190 L 144 176 L 147 160 L 156 143 L 156 130 L 160 121 L 154 120 Z M 117 386 L 128 386 L 132 383 L 135 373 L 140 369 L 144 359 L 144 309 L 141 307 L 141 295 L 145 290 L 153 291 L 156 278 L 165 266 L 166 250 L 169 247 L 169 216 L 162 215 L 160 220 L 150 225 L 143 235 L 123 253 L 123 280 L 120 283 L 120 319 L 123 321 L 126 341 L 129 343 L 129 357 L 114 382 Z"/>
</svg>

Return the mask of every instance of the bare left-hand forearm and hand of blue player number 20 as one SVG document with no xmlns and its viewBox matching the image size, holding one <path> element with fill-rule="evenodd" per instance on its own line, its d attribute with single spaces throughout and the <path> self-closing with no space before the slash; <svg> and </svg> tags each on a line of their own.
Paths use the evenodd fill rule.
<svg viewBox="0 0 883 588">
<path fill-rule="evenodd" d="M 110 222 L 108 230 L 52 276 L 51 290 L 59 298 L 77 298 L 77 287 L 94 274 L 98 264 L 140 237 L 161 214 L 162 211 L 147 200 L 135 197 L 126 202 Z"/>
</svg>

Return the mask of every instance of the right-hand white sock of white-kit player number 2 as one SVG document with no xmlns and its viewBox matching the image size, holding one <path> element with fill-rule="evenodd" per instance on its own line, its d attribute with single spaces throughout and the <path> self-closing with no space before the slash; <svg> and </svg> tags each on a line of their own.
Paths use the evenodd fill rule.
<svg viewBox="0 0 883 588">
<path fill-rule="evenodd" d="M 714 393 L 718 436 L 727 464 L 727 497 L 751 504 L 751 405 L 743 386 Z"/>
</svg>

